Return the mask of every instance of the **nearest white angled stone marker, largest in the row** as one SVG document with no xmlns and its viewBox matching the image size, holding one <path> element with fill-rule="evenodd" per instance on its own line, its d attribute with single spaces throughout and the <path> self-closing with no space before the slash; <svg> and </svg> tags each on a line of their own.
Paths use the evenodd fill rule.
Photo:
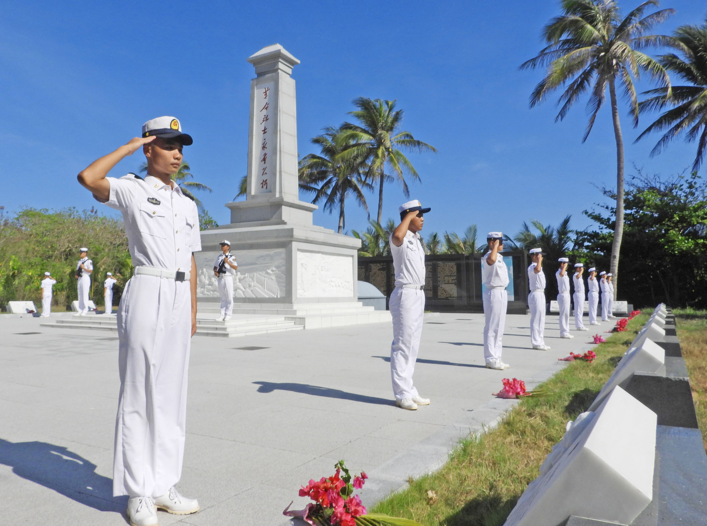
<svg viewBox="0 0 707 526">
<path fill-rule="evenodd" d="M 653 499 L 657 418 L 616 387 L 581 414 L 540 467 L 506 526 L 558 526 L 571 515 L 631 524 Z"/>
</svg>

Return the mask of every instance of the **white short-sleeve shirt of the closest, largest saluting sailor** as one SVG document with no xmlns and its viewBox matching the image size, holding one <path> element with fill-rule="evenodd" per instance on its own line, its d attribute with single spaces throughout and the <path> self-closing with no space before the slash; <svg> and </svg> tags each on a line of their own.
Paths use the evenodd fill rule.
<svg viewBox="0 0 707 526">
<path fill-rule="evenodd" d="M 123 214 L 133 265 L 191 269 L 192 252 L 201 250 L 199 213 L 179 185 L 170 187 L 151 175 L 106 180 L 110 197 L 105 204 Z"/>
</svg>

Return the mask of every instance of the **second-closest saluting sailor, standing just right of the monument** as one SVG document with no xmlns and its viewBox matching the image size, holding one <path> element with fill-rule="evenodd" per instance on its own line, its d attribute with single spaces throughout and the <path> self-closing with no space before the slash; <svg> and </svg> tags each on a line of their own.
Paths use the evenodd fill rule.
<svg viewBox="0 0 707 526">
<path fill-rule="evenodd" d="M 412 381 L 420 348 L 425 314 L 425 252 L 420 242 L 424 218 L 430 209 L 420 201 L 399 207 L 400 224 L 390 234 L 390 253 L 395 269 L 395 288 L 390 295 L 393 341 L 390 346 L 390 378 L 395 403 L 402 409 L 417 409 L 430 399 L 417 392 Z"/>
</svg>

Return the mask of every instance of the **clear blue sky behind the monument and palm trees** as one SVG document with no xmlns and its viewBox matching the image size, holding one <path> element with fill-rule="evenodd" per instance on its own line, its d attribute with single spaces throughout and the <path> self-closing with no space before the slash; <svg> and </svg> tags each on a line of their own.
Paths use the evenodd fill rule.
<svg viewBox="0 0 707 526">
<path fill-rule="evenodd" d="M 624 1 L 626 11 L 638 5 Z M 704 21 L 694 0 L 663 1 L 677 13 L 656 33 Z M 425 234 L 477 223 L 480 233 L 514 234 L 522 221 L 556 224 L 604 201 L 616 180 L 608 107 L 590 138 L 584 102 L 555 123 L 554 100 L 530 110 L 542 71 L 518 71 L 542 47 L 540 31 L 559 13 L 555 1 L 173 1 L 5 2 L 0 18 L 0 205 L 90 208 L 76 174 L 124 144 L 141 124 L 175 115 L 194 136 L 185 160 L 216 220 L 245 174 L 250 79 L 245 62 L 280 43 L 302 62 L 297 83 L 300 156 L 310 138 L 349 119 L 359 96 L 397 99 L 403 127 L 438 153 L 411 155 L 421 182 L 411 197 L 431 206 Z M 643 84 L 644 88 L 649 85 Z M 670 175 L 691 165 L 695 146 L 678 141 L 649 157 L 657 136 L 633 145 L 651 116 L 633 129 L 622 106 L 626 173 L 632 164 Z M 139 153 L 111 175 L 136 171 Z M 300 194 L 300 199 L 307 196 Z M 384 219 L 407 198 L 388 185 Z M 368 199 L 371 215 L 377 194 Z M 105 214 L 112 211 L 100 207 Z M 315 212 L 336 228 L 337 215 Z M 347 206 L 346 229 L 366 228 L 366 213 Z"/>
</svg>

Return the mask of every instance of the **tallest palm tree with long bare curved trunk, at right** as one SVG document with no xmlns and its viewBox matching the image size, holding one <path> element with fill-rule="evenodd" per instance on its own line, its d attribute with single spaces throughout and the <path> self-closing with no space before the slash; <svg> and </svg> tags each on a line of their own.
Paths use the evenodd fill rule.
<svg viewBox="0 0 707 526">
<path fill-rule="evenodd" d="M 645 1 L 621 18 L 615 0 L 562 0 L 561 16 L 553 18 L 543 30 L 543 37 L 549 45 L 537 57 L 520 66 L 520 69 L 548 66 L 547 75 L 530 96 L 530 107 L 568 84 L 559 98 L 558 104 L 562 106 L 555 122 L 564 119 L 580 95 L 591 90 L 587 103 L 589 124 L 583 142 L 592 131 L 597 113 L 604 105 L 607 88 L 609 90 L 617 144 L 617 211 L 611 257 L 614 276 L 619 269 L 619 251 L 624 235 L 624 139 L 619 122 L 617 83 L 631 104 L 634 127 L 638 126 L 638 99 L 633 78 L 640 78 L 643 71 L 662 83 L 670 95 L 670 78 L 665 68 L 640 51 L 670 42 L 670 37 L 644 35 L 653 25 L 674 13 L 674 9 L 662 9 L 643 16 L 646 9 L 658 5 L 658 0 Z M 616 279 L 614 284 L 616 295 Z"/>
</svg>

